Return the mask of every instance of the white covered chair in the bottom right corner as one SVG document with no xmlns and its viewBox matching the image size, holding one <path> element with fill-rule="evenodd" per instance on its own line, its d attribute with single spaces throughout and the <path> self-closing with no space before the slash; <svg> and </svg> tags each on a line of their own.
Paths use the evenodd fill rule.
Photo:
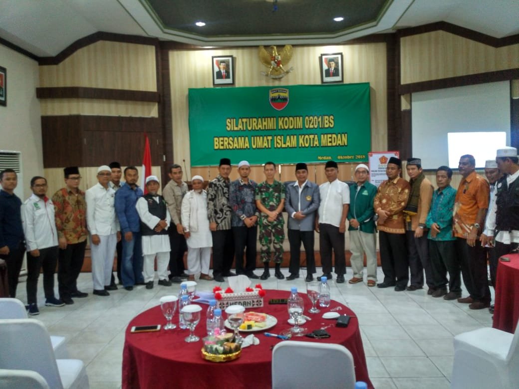
<svg viewBox="0 0 519 389">
<path fill-rule="evenodd" d="M 517 326 L 519 327 L 519 326 Z M 454 337 L 452 388 L 519 385 L 519 330 L 515 334 L 479 328 Z"/>
</svg>

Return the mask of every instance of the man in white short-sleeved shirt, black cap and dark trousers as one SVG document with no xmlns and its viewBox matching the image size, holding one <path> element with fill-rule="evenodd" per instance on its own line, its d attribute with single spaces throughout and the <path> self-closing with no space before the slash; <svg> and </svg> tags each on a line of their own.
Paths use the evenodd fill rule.
<svg viewBox="0 0 519 389">
<path fill-rule="evenodd" d="M 319 214 L 316 217 L 316 231 L 320 234 L 322 276 L 329 280 L 332 279 L 333 248 L 337 283 L 342 284 L 344 283 L 344 274 L 346 274 L 344 233 L 350 205 L 350 188 L 337 178 L 339 173 L 337 162 L 326 162 L 324 173 L 328 182 L 319 186 L 321 203 Z"/>
</svg>

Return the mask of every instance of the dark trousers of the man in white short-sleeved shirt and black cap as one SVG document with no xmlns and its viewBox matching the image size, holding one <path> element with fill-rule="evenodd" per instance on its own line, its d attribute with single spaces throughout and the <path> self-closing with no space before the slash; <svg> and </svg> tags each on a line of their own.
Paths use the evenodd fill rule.
<svg viewBox="0 0 519 389">
<path fill-rule="evenodd" d="M 290 231 L 290 230 L 289 230 Z M 331 224 L 319 223 L 319 246 L 321 247 L 321 265 L 323 273 L 332 272 L 332 248 L 335 256 L 335 273 L 346 274 L 346 256 L 344 255 L 344 232 Z"/>
</svg>

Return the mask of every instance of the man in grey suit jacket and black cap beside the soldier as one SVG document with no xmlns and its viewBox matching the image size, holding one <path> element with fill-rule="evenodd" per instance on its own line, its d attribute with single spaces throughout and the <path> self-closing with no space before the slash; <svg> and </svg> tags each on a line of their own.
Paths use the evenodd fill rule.
<svg viewBox="0 0 519 389">
<path fill-rule="evenodd" d="M 288 213 L 288 235 L 290 242 L 290 275 L 291 281 L 299 278 L 299 256 L 301 242 L 306 252 L 306 281 L 313 280 L 316 272 L 316 260 L 313 255 L 313 228 L 316 212 L 319 209 L 319 186 L 308 180 L 306 163 L 298 163 L 295 167 L 297 181 L 286 185 L 285 210 Z"/>
</svg>

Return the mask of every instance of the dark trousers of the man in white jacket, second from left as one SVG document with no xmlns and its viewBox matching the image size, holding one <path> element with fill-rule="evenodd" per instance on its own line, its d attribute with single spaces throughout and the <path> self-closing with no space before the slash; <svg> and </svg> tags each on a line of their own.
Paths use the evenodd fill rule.
<svg viewBox="0 0 519 389">
<path fill-rule="evenodd" d="M 58 246 L 41 248 L 39 257 L 27 254 L 27 303 L 36 304 L 39 271 L 43 268 L 43 290 L 45 298 L 54 297 L 54 272 L 58 263 Z"/>
</svg>

